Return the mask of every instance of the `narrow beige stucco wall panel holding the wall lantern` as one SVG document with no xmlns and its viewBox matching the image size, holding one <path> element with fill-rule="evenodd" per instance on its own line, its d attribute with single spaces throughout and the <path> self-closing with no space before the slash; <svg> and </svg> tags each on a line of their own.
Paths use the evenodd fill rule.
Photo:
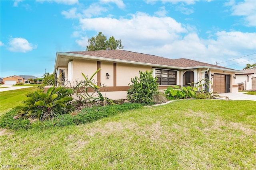
<svg viewBox="0 0 256 170">
<path fill-rule="evenodd" d="M 109 79 L 106 78 L 106 73 L 110 75 Z M 101 83 L 104 84 L 104 86 L 114 86 L 114 63 L 100 63 L 100 79 Z"/>
</svg>

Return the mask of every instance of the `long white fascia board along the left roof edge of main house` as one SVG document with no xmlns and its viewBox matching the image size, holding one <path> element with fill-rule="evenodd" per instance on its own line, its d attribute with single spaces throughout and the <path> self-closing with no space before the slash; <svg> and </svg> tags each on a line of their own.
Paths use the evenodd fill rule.
<svg viewBox="0 0 256 170">
<path fill-rule="evenodd" d="M 119 59 L 110 59 L 110 58 L 104 58 L 104 57 L 95 57 L 95 56 L 90 56 L 90 55 L 80 55 L 80 54 L 72 54 L 72 53 L 63 53 L 63 52 L 57 52 L 56 55 L 56 61 L 57 62 L 57 57 L 58 55 L 66 55 L 70 57 L 79 57 L 83 59 L 91 59 L 91 60 L 97 60 L 97 61 L 108 61 L 108 62 L 113 62 L 113 63 L 126 63 L 126 64 L 137 64 L 137 65 L 145 65 L 145 66 L 152 66 L 152 67 L 157 67 L 157 68 L 174 68 L 174 69 L 185 69 L 184 67 L 176 67 L 176 66 L 168 66 L 168 65 L 161 65 L 161 64 L 150 64 L 150 63 L 141 63 L 137 61 L 127 61 L 127 60 L 119 60 Z M 55 63 L 56 67 L 56 63 Z"/>
</svg>

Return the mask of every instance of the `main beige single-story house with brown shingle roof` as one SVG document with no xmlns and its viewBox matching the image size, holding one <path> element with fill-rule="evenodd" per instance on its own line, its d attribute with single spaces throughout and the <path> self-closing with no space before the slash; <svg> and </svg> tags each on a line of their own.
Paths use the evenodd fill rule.
<svg viewBox="0 0 256 170">
<path fill-rule="evenodd" d="M 128 84 L 131 84 L 131 78 L 139 76 L 139 70 L 152 70 L 158 77 L 159 89 L 172 85 L 187 86 L 208 78 L 212 82 L 208 90 L 216 93 L 238 92 L 233 76 L 240 72 L 190 59 L 167 59 L 123 50 L 57 52 L 54 68 L 60 81 L 71 83 L 83 80 L 82 73 L 92 76 L 101 68 L 94 80 L 98 85 L 106 86 L 102 88 L 102 94 L 112 100 L 126 98 Z"/>
</svg>

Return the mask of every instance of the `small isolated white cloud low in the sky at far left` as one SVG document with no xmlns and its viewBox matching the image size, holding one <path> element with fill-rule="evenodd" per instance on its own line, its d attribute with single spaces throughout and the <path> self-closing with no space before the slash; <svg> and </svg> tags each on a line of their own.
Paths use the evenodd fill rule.
<svg viewBox="0 0 256 170">
<path fill-rule="evenodd" d="M 32 51 L 32 49 L 37 48 L 37 45 L 29 43 L 28 40 L 24 38 L 11 38 L 8 44 L 8 50 L 12 52 L 26 53 L 28 51 Z"/>
</svg>

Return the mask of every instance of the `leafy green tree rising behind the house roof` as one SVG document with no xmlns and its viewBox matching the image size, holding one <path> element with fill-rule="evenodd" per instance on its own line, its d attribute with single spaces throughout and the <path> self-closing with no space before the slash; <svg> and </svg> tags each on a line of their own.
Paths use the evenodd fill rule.
<svg viewBox="0 0 256 170">
<path fill-rule="evenodd" d="M 107 37 L 99 32 L 98 35 L 88 39 L 86 51 L 106 50 L 106 49 L 123 49 L 121 39 L 116 40 L 113 36 L 107 40 Z"/>
</svg>

